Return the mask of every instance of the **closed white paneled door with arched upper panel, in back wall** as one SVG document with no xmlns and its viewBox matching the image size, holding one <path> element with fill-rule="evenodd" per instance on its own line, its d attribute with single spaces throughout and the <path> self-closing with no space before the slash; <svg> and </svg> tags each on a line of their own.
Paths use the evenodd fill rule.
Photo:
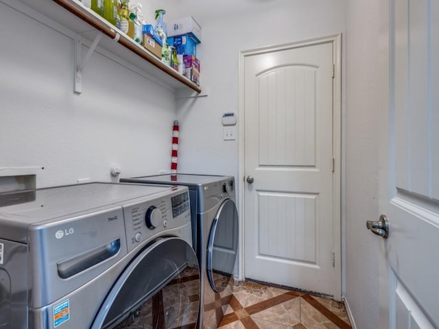
<svg viewBox="0 0 439 329">
<path fill-rule="evenodd" d="M 244 272 L 337 296 L 333 47 L 244 56 Z"/>
</svg>

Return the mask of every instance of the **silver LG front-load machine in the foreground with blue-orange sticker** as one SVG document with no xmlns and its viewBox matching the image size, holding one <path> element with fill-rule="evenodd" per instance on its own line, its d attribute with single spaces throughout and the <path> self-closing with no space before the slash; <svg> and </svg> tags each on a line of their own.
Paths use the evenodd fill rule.
<svg viewBox="0 0 439 329">
<path fill-rule="evenodd" d="M 38 189 L 0 205 L 0 228 L 1 329 L 195 328 L 187 188 Z"/>
</svg>

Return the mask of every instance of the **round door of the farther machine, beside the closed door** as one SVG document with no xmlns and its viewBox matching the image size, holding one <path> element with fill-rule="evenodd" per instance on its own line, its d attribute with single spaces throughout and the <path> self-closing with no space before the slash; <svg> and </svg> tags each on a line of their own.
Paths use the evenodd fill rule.
<svg viewBox="0 0 439 329">
<path fill-rule="evenodd" d="M 207 277 L 213 291 L 226 289 L 235 268 L 238 249 L 238 211 L 232 199 L 226 199 L 213 220 L 207 246 Z"/>
</svg>

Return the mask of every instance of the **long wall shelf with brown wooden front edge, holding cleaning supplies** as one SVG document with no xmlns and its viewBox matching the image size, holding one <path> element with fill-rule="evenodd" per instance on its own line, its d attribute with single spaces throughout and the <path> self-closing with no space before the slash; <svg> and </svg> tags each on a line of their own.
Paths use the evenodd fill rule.
<svg viewBox="0 0 439 329">
<path fill-rule="evenodd" d="M 102 32 L 105 36 L 99 41 L 99 47 L 126 60 L 140 70 L 161 80 L 174 89 L 190 88 L 201 93 L 200 86 L 187 77 L 167 66 L 150 51 L 134 42 L 117 27 L 111 25 L 101 16 L 86 8 L 78 0 L 20 0 L 33 10 L 40 12 L 49 19 L 71 29 L 73 32 L 93 40 Z"/>
</svg>

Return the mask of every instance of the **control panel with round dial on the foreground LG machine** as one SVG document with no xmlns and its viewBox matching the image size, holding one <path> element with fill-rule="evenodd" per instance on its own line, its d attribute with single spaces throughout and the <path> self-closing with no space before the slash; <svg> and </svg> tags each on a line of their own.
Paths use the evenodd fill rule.
<svg viewBox="0 0 439 329">
<path fill-rule="evenodd" d="M 164 230 L 179 228 L 191 221 L 189 191 L 178 186 L 172 193 L 123 207 L 128 252 Z"/>
</svg>

